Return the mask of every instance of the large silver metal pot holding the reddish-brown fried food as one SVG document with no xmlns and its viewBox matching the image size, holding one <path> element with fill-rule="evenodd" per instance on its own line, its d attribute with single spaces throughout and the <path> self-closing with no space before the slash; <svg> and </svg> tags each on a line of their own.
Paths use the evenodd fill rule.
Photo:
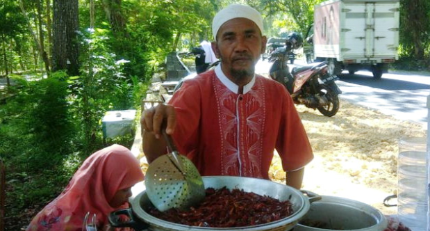
<svg viewBox="0 0 430 231">
<path fill-rule="evenodd" d="M 160 231 L 208 231 L 208 230 L 222 230 L 222 231 L 286 231 L 293 228 L 299 219 L 304 216 L 310 207 L 310 200 L 317 200 L 317 197 L 308 198 L 301 191 L 294 189 L 285 184 L 271 182 L 270 180 L 256 179 L 251 177 L 232 177 L 232 176 L 213 176 L 203 177 L 205 189 L 214 188 L 220 189 L 226 186 L 227 189 L 243 189 L 246 192 L 253 192 L 259 195 L 266 195 L 278 200 L 290 200 L 292 203 L 292 210 L 294 213 L 286 218 L 271 223 L 261 225 L 251 225 L 238 228 L 205 228 L 190 225 L 181 225 L 164 221 L 146 212 L 149 207 L 154 207 L 151 204 L 147 193 L 142 191 L 133 200 L 131 200 L 130 209 L 121 209 L 112 212 L 109 216 L 110 225 L 116 228 L 131 227 L 135 230 L 160 230 Z M 129 221 L 124 223 L 119 222 L 119 216 L 126 215 Z"/>
</svg>

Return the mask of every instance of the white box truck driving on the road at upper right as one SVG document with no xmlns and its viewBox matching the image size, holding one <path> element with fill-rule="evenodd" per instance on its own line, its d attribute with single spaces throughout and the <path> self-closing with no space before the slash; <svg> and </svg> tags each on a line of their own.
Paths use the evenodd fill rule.
<svg viewBox="0 0 430 231">
<path fill-rule="evenodd" d="M 399 0 L 324 1 L 306 37 L 313 45 L 304 47 L 306 58 L 328 61 L 330 74 L 369 70 L 379 79 L 398 59 Z"/>
</svg>

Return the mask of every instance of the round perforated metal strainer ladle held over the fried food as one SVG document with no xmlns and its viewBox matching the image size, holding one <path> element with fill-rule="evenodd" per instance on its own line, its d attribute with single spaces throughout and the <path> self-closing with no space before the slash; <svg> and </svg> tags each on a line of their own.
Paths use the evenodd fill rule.
<svg viewBox="0 0 430 231">
<path fill-rule="evenodd" d="M 205 196 L 204 183 L 190 159 L 179 154 L 172 137 L 163 129 L 172 152 L 164 154 L 148 166 L 145 186 L 149 200 L 161 212 L 167 209 L 189 209 Z"/>
</svg>

